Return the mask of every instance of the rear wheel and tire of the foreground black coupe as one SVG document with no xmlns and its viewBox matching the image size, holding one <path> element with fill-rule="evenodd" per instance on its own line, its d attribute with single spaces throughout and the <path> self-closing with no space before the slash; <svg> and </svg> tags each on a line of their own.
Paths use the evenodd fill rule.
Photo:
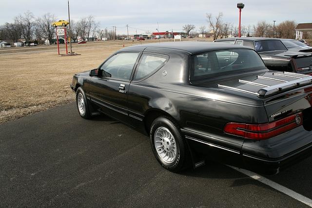
<svg viewBox="0 0 312 208">
<path fill-rule="evenodd" d="M 165 169 L 179 172 L 189 167 L 190 152 L 174 119 L 156 118 L 150 130 L 150 142 L 157 161 Z"/>
</svg>

